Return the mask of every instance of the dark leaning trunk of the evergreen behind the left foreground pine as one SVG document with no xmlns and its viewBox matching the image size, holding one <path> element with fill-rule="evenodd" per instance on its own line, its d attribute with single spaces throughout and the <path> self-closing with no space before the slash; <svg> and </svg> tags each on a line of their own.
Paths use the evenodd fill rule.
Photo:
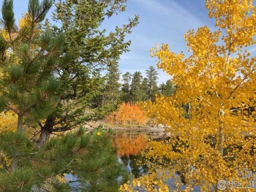
<svg viewBox="0 0 256 192">
<path fill-rule="evenodd" d="M 51 133 L 53 132 L 53 125 L 55 123 L 56 117 L 49 115 L 45 121 L 45 125 L 41 128 L 40 136 L 37 141 L 37 148 L 41 148 L 50 138 Z"/>
</svg>

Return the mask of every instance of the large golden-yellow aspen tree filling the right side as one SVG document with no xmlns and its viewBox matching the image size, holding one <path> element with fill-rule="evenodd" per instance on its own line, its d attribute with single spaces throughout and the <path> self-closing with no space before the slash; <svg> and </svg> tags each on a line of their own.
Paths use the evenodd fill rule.
<svg viewBox="0 0 256 192">
<path fill-rule="evenodd" d="M 252 184 L 256 170 L 255 2 L 207 0 L 205 5 L 216 29 L 189 30 L 184 35 L 188 56 L 171 52 L 166 44 L 152 48 L 157 66 L 173 77 L 177 90 L 144 108 L 170 127 L 171 136 L 149 144 L 144 153 L 148 175 L 122 185 L 122 191 L 181 191 L 182 185 L 184 191 L 194 186 L 221 191 L 220 180 L 231 191 L 255 190 L 241 187 Z M 175 180 L 177 173 L 181 176 Z M 170 179 L 175 182 L 168 184 Z"/>
</svg>

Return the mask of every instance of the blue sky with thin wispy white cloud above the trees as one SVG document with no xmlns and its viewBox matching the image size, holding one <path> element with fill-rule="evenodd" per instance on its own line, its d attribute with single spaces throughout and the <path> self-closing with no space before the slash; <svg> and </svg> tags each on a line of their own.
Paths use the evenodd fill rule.
<svg viewBox="0 0 256 192">
<path fill-rule="evenodd" d="M 0 0 L 2 4 L 2 0 Z M 14 0 L 16 18 L 27 10 L 28 0 Z M 214 20 L 207 16 L 204 0 L 127 0 L 127 11 L 114 16 L 104 24 L 108 30 L 127 23 L 135 14 L 140 16 L 140 23 L 127 37 L 131 39 L 130 52 L 119 60 L 121 73 L 140 71 L 145 75 L 149 66 L 156 67 L 157 58 L 150 57 L 150 48 L 156 44 L 168 43 L 171 51 L 186 54 L 184 33 L 188 29 L 202 26 L 214 28 Z M 158 69 L 158 84 L 170 77 Z"/>
</svg>

